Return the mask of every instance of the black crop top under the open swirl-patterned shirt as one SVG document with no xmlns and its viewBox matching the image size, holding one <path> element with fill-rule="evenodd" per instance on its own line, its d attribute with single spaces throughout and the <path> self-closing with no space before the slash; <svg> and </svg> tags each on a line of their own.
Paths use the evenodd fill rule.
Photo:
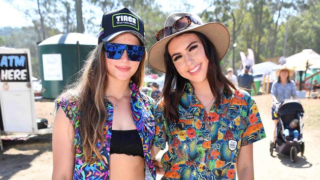
<svg viewBox="0 0 320 180">
<path fill-rule="evenodd" d="M 138 155 L 144 158 L 142 142 L 138 131 L 136 129 L 112 130 L 110 154 L 113 153 Z"/>
</svg>

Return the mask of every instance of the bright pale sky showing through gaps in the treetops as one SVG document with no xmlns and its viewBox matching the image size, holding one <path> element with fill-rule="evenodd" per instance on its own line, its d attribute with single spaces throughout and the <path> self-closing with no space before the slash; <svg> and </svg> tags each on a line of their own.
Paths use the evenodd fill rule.
<svg viewBox="0 0 320 180">
<path fill-rule="evenodd" d="M 203 3 L 204 0 L 190 0 L 189 3 L 193 5 L 193 8 L 191 10 L 192 13 L 199 13 L 203 9 L 205 9 L 207 4 Z M 23 0 L 20 0 L 21 3 L 26 3 Z M 83 0 L 83 3 L 85 3 L 85 0 Z M 179 9 L 180 4 L 182 3 L 181 0 L 159 0 L 159 4 L 161 4 L 163 11 L 171 12 Z M 27 4 L 20 4 L 21 6 L 27 5 Z M 36 7 L 36 0 L 34 0 L 34 4 L 28 4 L 34 5 Z M 85 16 L 85 14 L 83 15 Z M 102 16 L 97 14 L 96 17 L 98 19 Z M 31 24 L 31 19 L 27 18 L 27 16 L 16 9 L 14 6 L 12 6 L 10 3 L 4 0 L 0 0 L 0 28 L 2 27 L 23 27 L 27 26 L 28 24 Z M 99 23 L 99 20 L 96 20 L 97 24 Z"/>
</svg>

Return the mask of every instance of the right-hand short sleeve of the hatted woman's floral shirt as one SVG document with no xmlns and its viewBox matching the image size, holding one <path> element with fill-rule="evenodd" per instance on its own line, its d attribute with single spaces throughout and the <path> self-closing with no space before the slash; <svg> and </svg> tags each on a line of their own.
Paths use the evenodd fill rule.
<svg viewBox="0 0 320 180">
<path fill-rule="evenodd" d="M 241 146 L 252 144 L 266 137 L 255 100 L 249 96 L 247 127 L 241 136 Z"/>
</svg>

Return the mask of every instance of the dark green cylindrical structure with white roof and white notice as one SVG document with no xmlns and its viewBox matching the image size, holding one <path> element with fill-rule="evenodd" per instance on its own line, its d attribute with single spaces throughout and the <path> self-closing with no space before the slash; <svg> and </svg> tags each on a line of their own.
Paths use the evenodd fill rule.
<svg viewBox="0 0 320 180">
<path fill-rule="evenodd" d="M 56 98 L 76 80 L 97 41 L 91 35 L 71 32 L 54 35 L 38 45 L 43 98 Z"/>
</svg>

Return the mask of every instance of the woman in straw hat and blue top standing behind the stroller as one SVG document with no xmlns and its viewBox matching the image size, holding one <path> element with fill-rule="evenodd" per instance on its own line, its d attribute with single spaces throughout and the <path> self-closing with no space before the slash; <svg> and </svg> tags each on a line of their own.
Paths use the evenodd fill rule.
<svg viewBox="0 0 320 180">
<path fill-rule="evenodd" d="M 294 81 L 290 80 L 290 77 L 293 75 L 293 70 L 283 65 L 276 71 L 276 76 L 278 76 L 278 81 L 272 83 L 271 94 L 272 94 L 272 107 L 271 107 L 271 116 L 274 120 L 274 134 L 273 141 L 276 140 L 276 129 L 279 119 L 274 116 L 274 111 L 276 109 L 276 104 L 279 102 L 290 99 L 297 98 L 297 92 Z"/>
</svg>

